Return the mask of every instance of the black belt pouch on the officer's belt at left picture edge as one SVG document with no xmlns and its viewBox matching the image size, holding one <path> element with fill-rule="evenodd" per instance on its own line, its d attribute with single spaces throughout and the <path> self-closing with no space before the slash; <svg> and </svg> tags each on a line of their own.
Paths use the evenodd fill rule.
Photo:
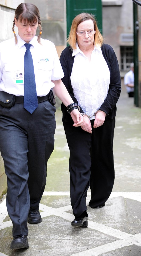
<svg viewBox="0 0 141 256">
<path fill-rule="evenodd" d="M 0 91 L 0 104 L 5 108 L 11 108 L 15 103 L 15 95 Z"/>
</svg>

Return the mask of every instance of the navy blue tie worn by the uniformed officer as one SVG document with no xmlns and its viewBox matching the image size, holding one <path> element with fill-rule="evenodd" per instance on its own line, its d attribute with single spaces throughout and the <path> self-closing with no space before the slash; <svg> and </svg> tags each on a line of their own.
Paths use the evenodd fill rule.
<svg viewBox="0 0 141 256">
<path fill-rule="evenodd" d="M 33 59 L 30 52 L 30 46 L 31 44 L 25 44 L 25 47 L 26 47 L 26 52 L 24 57 L 25 86 L 24 86 L 23 107 L 32 114 L 34 110 L 38 107 L 38 100 L 37 100 L 37 92 L 36 92 Z"/>
</svg>

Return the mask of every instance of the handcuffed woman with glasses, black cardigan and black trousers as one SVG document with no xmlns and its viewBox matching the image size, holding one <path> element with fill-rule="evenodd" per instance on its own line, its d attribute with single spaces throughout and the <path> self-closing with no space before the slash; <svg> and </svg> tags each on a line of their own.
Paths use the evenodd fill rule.
<svg viewBox="0 0 141 256">
<path fill-rule="evenodd" d="M 88 226 L 87 190 L 91 208 L 101 208 L 114 184 L 113 136 L 121 79 L 110 45 L 103 44 L 94 15 L 78 14 L 72 21 L 70 46 L 60 56 L 62 78 L 70 96 L 80 106 L 81 127 L 72 127 L 61 105 L 63 126 L 70 149 L 70 196 L 74 227 Z"/>
</svg>

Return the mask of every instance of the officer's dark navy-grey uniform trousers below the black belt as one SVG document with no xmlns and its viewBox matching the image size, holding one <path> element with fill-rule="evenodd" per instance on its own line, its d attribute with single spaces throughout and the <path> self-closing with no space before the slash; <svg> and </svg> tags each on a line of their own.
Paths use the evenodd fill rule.
<svg viewBox="0 0 141 256">
<path fill-rule="evenodd" d="M 23 104 L 0 105 L 0 151 L 7 175 L 7 211 L 13 236 L 27 235 L 29 212 L 37 211 L 46 185 L 47 161 L 54 149 L 55 107 L 38 104 L 30 114 Z"/>
</svg>

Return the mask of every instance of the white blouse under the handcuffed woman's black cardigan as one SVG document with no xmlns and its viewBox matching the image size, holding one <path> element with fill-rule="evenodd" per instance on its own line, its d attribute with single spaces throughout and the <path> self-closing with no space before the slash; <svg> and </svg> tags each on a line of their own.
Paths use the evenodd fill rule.
<svg viewBox="0 0 141 256">
<path fill-rule="evenodd" d="M 71 73 L 71 85 L 78 105 L 84 113 L 95 119 L 94 113 L 104 102 L 110 84 L 110 71 L 100 47 L 95 47 L 89 62 L 76 43 L 72 56 L 74 64 Z"/>
</svg>

